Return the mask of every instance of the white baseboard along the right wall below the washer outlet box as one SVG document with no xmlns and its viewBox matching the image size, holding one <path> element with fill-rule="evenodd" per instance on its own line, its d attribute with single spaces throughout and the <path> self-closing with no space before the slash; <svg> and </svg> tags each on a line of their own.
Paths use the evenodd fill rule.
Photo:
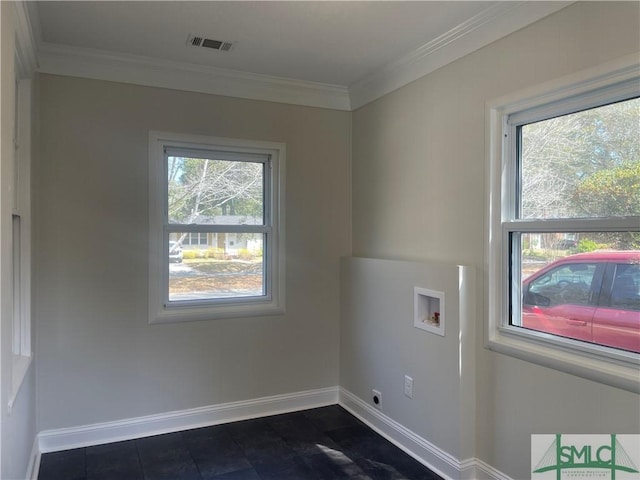
<svg viewBox="0 0 640 480">
<path fill-rule="evenodd" d="M 392 418 L 373 408 L 353 393 L 340 388 L 338 403 L 373 430 L 446 479 L 511 480 L 480 459 L 459 460 Z"/>
</svg>

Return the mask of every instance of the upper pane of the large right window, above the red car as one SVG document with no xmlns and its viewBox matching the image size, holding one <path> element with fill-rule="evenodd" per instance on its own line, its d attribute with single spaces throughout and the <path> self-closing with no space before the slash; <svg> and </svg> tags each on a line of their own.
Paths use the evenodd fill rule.
<svg viewBox="0 0 640 480">
<path fill-rule="evenodd" d="M 520 218 L 640 215 L 640 99 L 519 127 Z"/>
</svg>

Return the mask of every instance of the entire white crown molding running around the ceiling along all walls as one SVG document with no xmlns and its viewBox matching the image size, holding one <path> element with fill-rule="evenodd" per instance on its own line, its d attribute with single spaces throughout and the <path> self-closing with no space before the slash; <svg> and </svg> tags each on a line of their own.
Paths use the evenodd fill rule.
<svg viewBox="0 0 640 480">
<path fill-rule="evenodd" d="M 46 42 L 34 43 L 34 34 L 39 33 L 38 28 L 31 28 L 39 27 L 36 9 L 25 6 L 17 9 L 22 12 L 21 30 L 30 32 L 25 39 L 39 44 L 37 56 L 33 49 L 33 55 L 28 58 L 33 65 L 39 63 L 38 70 L 43 73 L 350 111 L 571 3 L 574 2 L 496 2 L 349 87 Z M 29 28 L 25 30 L 24 26 Z M 39 37 L 35 39 L 37 41 Z"/>
</svg>

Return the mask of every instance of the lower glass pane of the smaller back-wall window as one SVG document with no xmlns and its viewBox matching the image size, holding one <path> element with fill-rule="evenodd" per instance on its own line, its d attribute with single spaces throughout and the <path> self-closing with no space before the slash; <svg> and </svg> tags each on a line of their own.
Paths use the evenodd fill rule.
<svg viewBox="0 0 640 480">
<path fill-rule="evenodd" d="M 198 233 L 191 234 L 197 240 Z M 261 233 L 200 233 L 207 244 L 169 238 L 169 301 L 264 296 L 264 236 Z M 172 248 L 173 247 L 173 248 Z"/>
</svg>

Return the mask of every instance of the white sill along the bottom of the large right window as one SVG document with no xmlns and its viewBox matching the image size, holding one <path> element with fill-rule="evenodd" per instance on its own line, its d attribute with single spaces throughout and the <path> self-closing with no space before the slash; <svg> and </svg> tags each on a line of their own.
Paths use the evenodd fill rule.
<svg viewBox="0 0 640 480">
<path fill-rule="evenodd" d="M 579 342 L 560 339 L 551 343 L 544 334 L 516 330 L 496 329 L 486 342 L 486 347 L 520 360 L 640 393 L 640 356 L 626 352 L 617 354 L 596 345 L 590 349 L 593 350 L 591 352 L 580 346 Z"/>
</svg>

